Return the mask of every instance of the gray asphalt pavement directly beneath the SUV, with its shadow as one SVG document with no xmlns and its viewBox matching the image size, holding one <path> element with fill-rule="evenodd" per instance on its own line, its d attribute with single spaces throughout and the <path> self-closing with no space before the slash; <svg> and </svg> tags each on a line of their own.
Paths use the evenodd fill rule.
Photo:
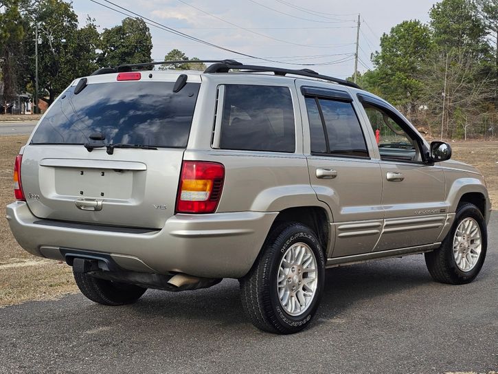
<svg viewBox="0 0 498 374">
<path fill-rule="evenodd" d="M 328 270 L 313 325 L 252 327 L 238 282 L 127 307 L 81 295 L 0 309 L 1 373 L 444 373 L 498 371 L 498 214 L 470 285 L 431 281 L 423 256 Z"/>
</svg>

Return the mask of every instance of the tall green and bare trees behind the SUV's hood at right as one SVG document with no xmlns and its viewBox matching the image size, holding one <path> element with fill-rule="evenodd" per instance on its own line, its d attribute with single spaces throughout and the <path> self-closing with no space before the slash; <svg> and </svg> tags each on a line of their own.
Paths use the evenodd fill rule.
<svg viewBox="0 0 498 374">
<path fill-rule="evenodd" d="M 429 14 L 428 25 L 404 21 L 383 34 L 381 50 L 372 54 L 374 69 L 359 76 L 359 85 L 392 102 L 429 134 L 493 133 L 498 1 L 442 0 Z"/>
</svg>

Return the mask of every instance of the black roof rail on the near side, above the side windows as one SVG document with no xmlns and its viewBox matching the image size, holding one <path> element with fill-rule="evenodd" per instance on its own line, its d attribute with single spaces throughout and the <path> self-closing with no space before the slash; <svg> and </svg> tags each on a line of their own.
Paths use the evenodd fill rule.
<svg viewBox="0 0 498 374">
<path fill-rule="evenodd" d="M 231 61 L 221 61 L 214 63 L 204 70 L 205 73 L 227 73 L 231 69 L 242 69 L 249 72 L 271 72 L 275 76 L 285 76 L 286 74 L 293 74 L 295 76 L 306 76 L 309 78 L 318 78 L 328 80 L 330 82 L 338 83 L 339 85 L 360 88 L 356 83 L 352 83 L 346 79 L 334 78 L 333 76 L 322 76 L 311 69 L 284 69 L 282 67 L 269 67 L 258 65 L 244 65 L 241 63 L 232 64 Z"/>
</svg>

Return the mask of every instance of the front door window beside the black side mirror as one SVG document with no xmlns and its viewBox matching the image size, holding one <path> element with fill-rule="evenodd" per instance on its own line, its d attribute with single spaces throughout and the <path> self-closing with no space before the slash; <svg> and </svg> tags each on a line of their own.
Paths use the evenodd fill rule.
<svg viewBox="0 0 498 374">
<path fill-rule="evenodd" d="M 381 159 L 421 161 L 416 140 L 411 139 L 391 115 L 368 103 L 363 107 L 374 130 Z"/>
</svg>

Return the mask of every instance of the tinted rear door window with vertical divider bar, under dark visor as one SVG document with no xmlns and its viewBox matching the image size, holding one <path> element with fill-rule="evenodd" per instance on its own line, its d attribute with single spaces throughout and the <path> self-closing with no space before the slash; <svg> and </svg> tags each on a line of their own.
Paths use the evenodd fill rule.
<svg viewBox="0 0 498 374">
<path fill-rule="evenodd" d="M 311 153 L 368 157 L 361 125 L 350 102 L 306 98 Z"/>
</svg>

